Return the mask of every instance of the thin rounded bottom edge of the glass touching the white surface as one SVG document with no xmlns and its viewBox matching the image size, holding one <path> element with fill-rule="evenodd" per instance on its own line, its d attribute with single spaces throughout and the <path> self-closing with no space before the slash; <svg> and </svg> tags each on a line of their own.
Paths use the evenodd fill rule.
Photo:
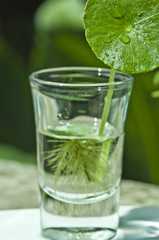
<svg viewBox="0 0 159 240">
<path fill-rule="evenodd" d="M 48 228 L 42 235 L 51 240 L 108 240 L 116 235 L 116 231 L 104 228 Z"/>
</svg>

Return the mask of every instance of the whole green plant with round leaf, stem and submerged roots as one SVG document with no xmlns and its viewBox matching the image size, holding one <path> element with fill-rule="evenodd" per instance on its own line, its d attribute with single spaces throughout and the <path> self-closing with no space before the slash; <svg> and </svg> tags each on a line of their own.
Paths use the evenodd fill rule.
<svg viewBox="0 0 159 240">
<path fill-rule="evenodd" d="M 127 12 L 127 9 L 130 9 L 129 12 Z M 103 0 L 102 2 L 101 0 L 87 1 L 84 13 L 84 27 L 87 41 L 96 56 L 111 67 L 109 78 L 110 88 L 105 97 L 99 136 L 103 135 L 109 113 L 110 101 L 114 91 L 115 71 L 120 70 L 137 74 L 151 71 L 159 66 L 159 41 L 157 38 L 159 23 L 156 21 L 158 19 L 158 10 L 159 4 L 155 0 L 148 1 L 147 3 L 138 0 L 133 2 L 120 0 L 118 3 L 114 0 Z M 152 27 L 153 31 L 151 31 Z M 151 45 L 150 43 L 152 42 L 153 44 Z M 83 130 L 82 133 L 82 136 L 84 136 Z M 82 172 L 85 172 L 88 180 L 92 181 L 92 177 L 89 176 L 88 171 L 91 169 L 90 172 L 94 172 L 91 166 L 93 166 L 92 162 L 94 163 L 92 159 L 96 158 L 96 153 L 98 152 L 96 148 L 98 143 L 94 142 L 91 138 L 85 139 L 85 147 L 88 148 L 91 144 L 91 149 L 93 149 L 93 151 L 89 152 L 90 158 L 88 162 L 90 164 L 86 164 L 85 167 L 82 167 L 82 165 L 79 167 L 79 163 L 83 162 L 82 159 L 86 159 L 85 154 L 87 154 L 86 151 L 84 151 L 85 154 L 82 152 L 84 145 L 81 144 L 81 140 L 66 140 L 58 145 L 57 149 L 49 153 L 48 158 L 51 164 L 58 163 L 58 165 L 53 164 L 56 169 L 56 176 L 64 172 L 64 169 L 66 173 L 75 173 L 77 169 L 78 171 L 83 169 Z M 76 148 L 73 149 L 74 145 Z M 100 152 L 107 149 L 105 158 L 108 157 L 109 148 L 110 141 L 105 142 L 100 147 Z M 69 152 L 71 152 L 71 156 Z M 76 161 L 73 165 L 70 165 L 72 159 L 76 159 Z M 68 165 L 73 166 L 73 169 L 71 170 Z M 96 169 L 98 169 L 97 166 Z M 97 176 L 100 175 L 99 172 Z M 96 181 L 97 179 L 94 177 L 93 180 Z"/>
</svg>

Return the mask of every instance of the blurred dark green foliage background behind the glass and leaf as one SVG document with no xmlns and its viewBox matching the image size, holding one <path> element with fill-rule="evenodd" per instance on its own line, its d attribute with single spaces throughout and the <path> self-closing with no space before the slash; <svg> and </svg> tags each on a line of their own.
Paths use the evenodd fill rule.
<svg viewBox="0 0 159 240">
<path fill-rule="evenodd" d="M 0 158 L 36 163 L 35 127 L 28 75 L 60 66 L 106 67 L 84 35 L 85 0 L 1 0 Z M 157 70 L 135 75 L 129 105 L 123 178 L 159 184 Z"/>
</svg>

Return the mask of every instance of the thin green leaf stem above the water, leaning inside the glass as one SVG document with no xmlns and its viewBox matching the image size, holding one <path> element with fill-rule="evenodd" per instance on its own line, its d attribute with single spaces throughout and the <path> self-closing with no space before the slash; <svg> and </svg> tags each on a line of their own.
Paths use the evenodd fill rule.
<svg viewBox="0 0 159 240">
<path fill-rule="evenodd" d="M 101 120 L 101 124 L 100 124 L 100 129 L 99 129 L 99 136 L 102 136 L 103 132 L 104 132 L 104 127 L 105 127 L 105 123 L 107 121 L 108 118 L 108 113 L 109 113 L 109 109 L 110 109 L 110 102 L 113 96 L 113 92 L 114 92 L 114 78 L 115 78 L 115 69 L 111 68 L 110 70 L 110 76 L 109 76 L 109 90 L 108 90 L 108 94 L 105 96 L 104 99 L 104 109 L 103 109 L 103 114 L 102 114 L 102 120 Z"/>
</svg>

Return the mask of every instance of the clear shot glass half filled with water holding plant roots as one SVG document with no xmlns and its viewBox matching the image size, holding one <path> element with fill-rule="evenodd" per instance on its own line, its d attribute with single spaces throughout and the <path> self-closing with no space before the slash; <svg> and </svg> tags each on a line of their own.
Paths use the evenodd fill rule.
<svg viewBox="0 0 159 240">
<path fill-rule="evenodd" d="M 133 77 L 101 68 L 55 68 L 30 76 L 42 235 L 106 240 L 118 228 L 124 125 Z M 99 134 L 110 85 L 107 121 Z"/>
</svg>

